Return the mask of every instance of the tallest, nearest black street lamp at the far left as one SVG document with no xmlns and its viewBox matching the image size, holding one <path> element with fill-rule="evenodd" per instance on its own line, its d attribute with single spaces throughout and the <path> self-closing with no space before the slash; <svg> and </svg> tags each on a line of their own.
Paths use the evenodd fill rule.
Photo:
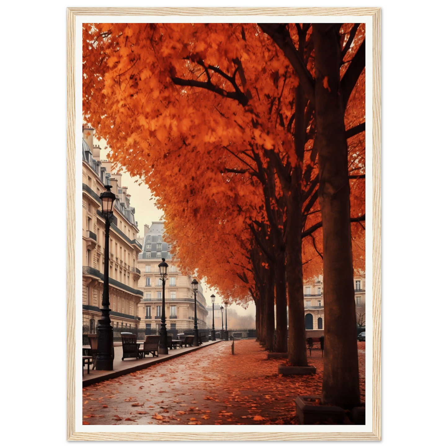
<svg viewBox="0 0 448 448">
<path fill-rule="evenodd" d="M 113 328 L 109 317 L 109 228 L 113 220 L 113 204 L 115 194 L 112 193 L 112 185 L 104 185 L 107 191 L 99 195 L 101 210 L 106 225 L 104 239 L 104 281 L 103 300 L 101 302 L 101 319 L 98 321 L 98 356 L 96 358 L 96 370 L 113 370 Z"/>
</svg>

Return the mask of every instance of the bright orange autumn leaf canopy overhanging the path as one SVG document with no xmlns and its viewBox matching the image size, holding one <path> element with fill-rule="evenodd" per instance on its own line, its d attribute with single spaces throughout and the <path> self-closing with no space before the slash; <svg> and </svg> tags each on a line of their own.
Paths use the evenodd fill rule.
<svg viewBox="0 0 448 448">
<path fill-rule="evenodd" d="M 341 27 L 343 42 L 352 28 Z M 289 30 L 298 44 L 295 25 Z M 364 34 L 360 26 L 344 61 Z M 314 75 L 312 26 L 306 45 Z M 306 173 L 306 217 L 298 228 L 306 232 L 321 220 L 313 194 L 319 185 L 315 122 L 310 113 L 305 152 L 298 156 L 293 118 L 299 80 L 289 60 L 256 24 L 85 24 L 83 76 L 85 120 L 108 141 L 112 160 L 158 197 L 181 270 L 196 270 L 224 298 L 244 306 L 255 290 L 254 231 L 261 232 L 260 224 L 271 232 L 271 213 L 284 235 L 288 218 L 289 193 L 274 159 Z M 365 120 L 364 92 L 362 75 L 349 98 L 346 129 Z M 365 176 L 365 133 L 349 138 L 348 146 L 352 217 L 358 217 L 365 213 L 365 181 L 354 176 Z M 272 181 L 268 195 L 262 177 Z M 352 233 L 354 267 L 363 269 L 362 224 L 353 223 Z M 304 277 L 321 273 L 322 228 L 302 243 Z"/>
</svg>

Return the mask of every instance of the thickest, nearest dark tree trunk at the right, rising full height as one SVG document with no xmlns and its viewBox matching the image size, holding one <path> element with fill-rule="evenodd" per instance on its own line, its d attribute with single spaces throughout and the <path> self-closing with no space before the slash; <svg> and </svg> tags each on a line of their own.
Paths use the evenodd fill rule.
<svg viewBox="0 0 448 448">
<path fill-rule="evenodd" d="M 337 26 L 314 23 L 319 205 L 323 228 L 325 350 L 323 404 L 359 405 L 358 349 L 350 232 L 350 187 Z"/>
</svg>

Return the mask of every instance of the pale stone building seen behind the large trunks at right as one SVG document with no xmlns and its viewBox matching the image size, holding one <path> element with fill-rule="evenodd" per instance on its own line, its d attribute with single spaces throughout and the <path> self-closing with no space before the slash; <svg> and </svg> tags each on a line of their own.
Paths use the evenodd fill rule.
<svg viewBox="0 0 448 448">
<path fill-rule="evenodd" d="M 360 327 L 366 323 L 366 278 L 355 276 L 353 278 L 355 292 L 356 318 Z M 315 277 L 313 281 L 303 285 L 303 299 L 305 306 L 305 328 L 308 330 L 322 330 L 325 327 L 324 319 L 324 290 L 323 276 Z"/>
</svg>

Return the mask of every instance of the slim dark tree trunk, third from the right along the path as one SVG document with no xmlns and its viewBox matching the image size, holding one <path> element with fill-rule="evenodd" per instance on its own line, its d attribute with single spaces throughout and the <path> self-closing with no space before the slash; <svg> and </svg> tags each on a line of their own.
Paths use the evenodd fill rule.
<svg viewBox="0 0 448 448">
<path fill-rule="evenodd" d="M 288 320 L 286 301 L 286 266 L 284 254 L 277 257 L 276 263 L 276 352 L 288 351 Z"/>
</svg>

